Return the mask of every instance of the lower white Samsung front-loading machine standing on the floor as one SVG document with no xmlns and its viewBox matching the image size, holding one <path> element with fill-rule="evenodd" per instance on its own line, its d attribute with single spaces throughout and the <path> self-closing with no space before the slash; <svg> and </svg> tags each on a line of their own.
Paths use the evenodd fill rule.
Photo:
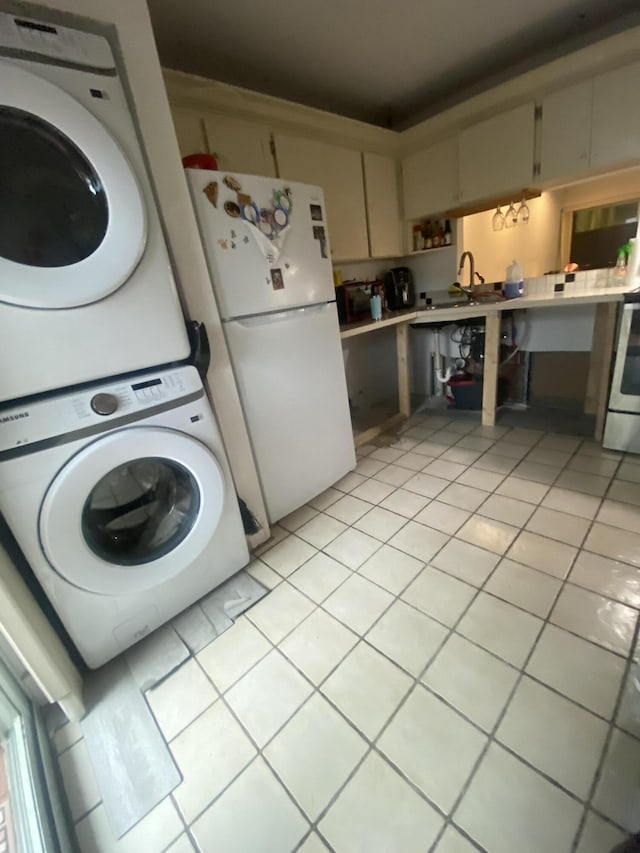
<svg viewBox="0 0 640 853">
<path fill-rule="evenodd" d="M 249 561 L 191 366 L 0 410 L 0 512 L 90 667 Z"/>
</svg>

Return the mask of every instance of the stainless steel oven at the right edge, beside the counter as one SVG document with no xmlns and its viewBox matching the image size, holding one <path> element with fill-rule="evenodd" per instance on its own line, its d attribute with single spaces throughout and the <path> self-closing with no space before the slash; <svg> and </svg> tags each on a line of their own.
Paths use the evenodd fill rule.
<svg viewBox="0 0 640 853">
<path fill-rule="evenodd" d="M 640 293 L 625 294 L 624 302 L 602 443 L 640 453 Z"/>
</svg>

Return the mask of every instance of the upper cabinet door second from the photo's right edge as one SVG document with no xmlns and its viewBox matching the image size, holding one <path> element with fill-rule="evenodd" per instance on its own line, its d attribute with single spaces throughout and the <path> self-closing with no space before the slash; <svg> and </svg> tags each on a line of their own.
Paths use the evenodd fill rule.
<svg viewBox="0 0 640 853">
<path fill-rule="evenodd" d="M 592 99 L 592 80 L 543 98 L 537 181 L 567 178 L 589 168 Z"/>
</svg>

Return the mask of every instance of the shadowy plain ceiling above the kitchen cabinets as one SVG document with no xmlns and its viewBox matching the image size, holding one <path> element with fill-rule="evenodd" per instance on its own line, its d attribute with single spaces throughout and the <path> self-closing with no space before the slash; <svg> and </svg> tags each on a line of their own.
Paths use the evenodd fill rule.
<svg viewBox="0 0 640 853">
<path fill-rule="evenodd" d="M 163 66 L 402 129 L 638 23 L 638 0 L 148 0 Z"/>
</svg>

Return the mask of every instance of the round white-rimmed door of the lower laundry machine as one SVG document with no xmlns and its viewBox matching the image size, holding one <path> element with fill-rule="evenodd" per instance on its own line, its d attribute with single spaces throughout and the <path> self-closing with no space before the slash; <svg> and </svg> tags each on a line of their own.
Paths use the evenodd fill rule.
<svg viewBox="0 0 640 853">
<path fill-rule="evenodd" d="M 132 427 L 87 445 L 40 510 L 51 566 L 81 589 L 126 595 L 181 572 L 211 542 L 224 502 L 211 451 L 171 429 Z"/>
</svg>

